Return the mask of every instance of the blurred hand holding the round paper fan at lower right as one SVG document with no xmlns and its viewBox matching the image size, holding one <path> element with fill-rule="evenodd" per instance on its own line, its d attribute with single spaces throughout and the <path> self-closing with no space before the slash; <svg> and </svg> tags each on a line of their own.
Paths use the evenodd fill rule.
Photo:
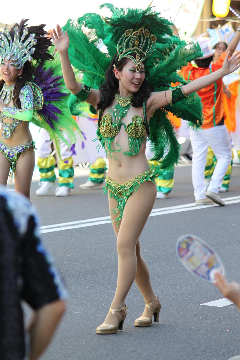
<svg viewBox="0 0 240 360">
<path fill-rule="evenodd" d="M 215 274 L 215 280 L 216 282 L 214 284 L 221 291 L 223 296 L 234 302 L 240 311 L 240 284 L 228 283 L 225 277 L 220 273 Z"/>
</svg>

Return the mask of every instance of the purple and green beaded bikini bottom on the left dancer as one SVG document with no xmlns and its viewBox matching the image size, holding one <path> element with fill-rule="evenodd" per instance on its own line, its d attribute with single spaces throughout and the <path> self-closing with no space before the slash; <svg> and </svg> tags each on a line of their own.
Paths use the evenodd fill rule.
<svg viewBox="0 0 240 360">
<path fill-rule="evenodd" d="M 30 141 L 30 143 L 18 145 L 11 148 L 0 140 L 0 153 L 3 153 L 5 155 L 5 158 L 8 159 L 8 161 L 10 162 L 9 176 L 13 176 L 13 174 L 16 172 L 16 164 L 18 158 L 21 154 L 22 156 L 24 155 L 26 149 L 28 149 L 29 152 L 31 151 L 31 149 L 36 149 L 34 141 Z"/>
</svg>

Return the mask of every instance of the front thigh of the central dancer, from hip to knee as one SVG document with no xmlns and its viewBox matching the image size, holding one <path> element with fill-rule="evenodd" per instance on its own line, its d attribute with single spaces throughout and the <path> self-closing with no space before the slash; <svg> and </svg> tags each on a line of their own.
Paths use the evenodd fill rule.
<svg viewBox="0 0 240 360">
<path fill-rule="evenodd" d="M 136 247 L 137 240 L 148 220 L 157 195 L 157 186 L 152 181 L 145 181 L 133 192 L 124 207 L 122 222 L 117 237 L 120 245 Z"/>
</svg>

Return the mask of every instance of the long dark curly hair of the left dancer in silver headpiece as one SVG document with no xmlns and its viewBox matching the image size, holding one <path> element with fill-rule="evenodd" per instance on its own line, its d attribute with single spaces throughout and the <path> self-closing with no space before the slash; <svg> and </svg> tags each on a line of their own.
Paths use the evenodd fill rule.
<svg viewBox="0 0 240 360">
<path fill-rule="evenodd" d="M 21 77 L 19 76 L 17 78 L 17 81 L 15 82 L 14 90 L 13 90 L 13 105 L 17 109 L 21 109 L 21 102 L 19 99 L 20 90 L 24 85 L 26 85 L 27 81 L 32 81 L 34 75 L 34 68 L 32 66 L 32 63 L 29 61 L 26 61 L 26 63 L 23 65 L 23 72 Z M 0 91 L 3 88 L 5 81 L 0 81 Z"/>
</svg>

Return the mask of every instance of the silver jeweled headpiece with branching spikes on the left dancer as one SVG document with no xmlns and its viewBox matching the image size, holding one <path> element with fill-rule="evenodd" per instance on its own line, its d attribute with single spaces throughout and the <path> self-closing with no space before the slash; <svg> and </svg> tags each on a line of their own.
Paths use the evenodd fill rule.
<svg viewBox="0 0 240 360">
<path fill-rule="evenodd" d="M 37 40 L 35 39 L 35 34 L 30 34 L 29 37 L 24 41 L 28 35 L 28 29 L 24 28 L 23 34 L 20 38 L 19 27 L 14 27 L 14 39 L 10 35 L 10 30 L 4 29 L 4 32 L 0 32 L 0 56 L 2 59 L 6 57 L 7 60 L 13 56 L 13 61 L 17 69 L 21 69 L 24 63 L 28 60 L 32 60 L 32 54 L 35 51 L 33 48 L 36 45 Z"/>
</svg>

